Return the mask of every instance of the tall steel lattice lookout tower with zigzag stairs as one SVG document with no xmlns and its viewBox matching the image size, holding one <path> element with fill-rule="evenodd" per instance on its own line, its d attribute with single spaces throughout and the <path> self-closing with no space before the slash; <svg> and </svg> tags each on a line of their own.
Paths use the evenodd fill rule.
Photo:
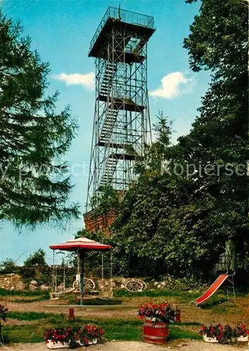
<svg viewBox="0 0 249 351">
<path fill-rule="evenodd" d="M 151 143 L 147 43 L 153 32 L 151 16 L 109 7 L 91 40 L 96 103 L 87 211 L 101 187 L 127 189 L 136 178 L 136 160 Z"/>
</svg>

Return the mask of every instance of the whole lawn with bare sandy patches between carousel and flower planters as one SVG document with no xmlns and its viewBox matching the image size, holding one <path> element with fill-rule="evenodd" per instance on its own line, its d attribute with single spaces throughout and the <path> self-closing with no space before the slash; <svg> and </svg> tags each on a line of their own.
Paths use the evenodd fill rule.
<svg viewBox="0 0 249 351">
<path fill-rule="evenodd" d="M 189 302 L 200 294 L 188 291 L 116 291 L 113 300 L 86 299 L 85 308 L 75 307 L 75 322 L 69 322 L 68 307 L 62 306 L 68 303 L 67 300 L 58 300 L 57 306 L 56 302 L 45 300 L 47 293 L 0 291 L 4 305 L 10 307 L 8 321 L 3 325 L 4 337 L 11 343 L 37 343 L 43 340 L 44 331 L 49 328 L 96 324 L 103 327 L 108 340 L 142 340 L 143 321 L 136 317 L 136 310 L 140 304 L 151 300 L 155 303 L 170 300 L 181 308 L 184 323 L 170 324 L 172 340 L 200 338 L 198 331 L 202 324 L 236 324 L 243 320 L 248 307 L 245 296 L 238 296 L 238 305 L 232 305 L 224 302 L 224 291 L 219 291 L 202 308 L 190 307 Z M 71 301 L 72 297 L 68 298 Z M 108 309 L 106 304 L 113 305 L 112 309 Z M 87 309 L 87 305 L 96 307 Z"/>
</svg>

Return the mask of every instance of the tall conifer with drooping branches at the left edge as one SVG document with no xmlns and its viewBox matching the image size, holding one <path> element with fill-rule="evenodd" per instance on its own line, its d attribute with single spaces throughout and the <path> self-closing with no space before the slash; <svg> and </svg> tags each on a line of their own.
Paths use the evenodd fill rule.
<svg viewBox="0 0 249 351">
<path fill-rule="evenodd" d="M 22 35 L 0 12 L 0 219 L 36 225 L 78 216 L 63 161 L 77 124 L 46 96 L 49 64 Z"/>
</svg>

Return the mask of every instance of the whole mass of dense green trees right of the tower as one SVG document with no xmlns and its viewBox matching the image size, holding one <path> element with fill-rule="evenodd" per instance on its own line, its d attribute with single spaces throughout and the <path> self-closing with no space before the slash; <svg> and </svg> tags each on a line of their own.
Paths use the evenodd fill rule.
<svg viewBox="0 0 249 351">
<path fill-rule="evenodd" d="M 203 0 L 184 47 L 194 72 L 210 71 L 210 87 L 177 145 L 170 145 L 170 122 L 158 116 L 157 140 L 112 227 L 121 274 L 208 279 L 229 241 L 236 253 L 229 268 L 249 270 L 245 3 Z"/>
</svg>

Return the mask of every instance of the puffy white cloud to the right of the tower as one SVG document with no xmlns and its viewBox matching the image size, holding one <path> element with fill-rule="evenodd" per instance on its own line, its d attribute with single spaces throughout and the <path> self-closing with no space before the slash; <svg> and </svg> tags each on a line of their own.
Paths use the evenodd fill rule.
<svg viewBox="0 0 249 351">
<path fill-rule="evenodd" d="M 189 92 L 189 87 L 186 90 L 181 90 L 181 85 L 192 84 L 193 78 L 186 78 L 181 72 L 172 72 L 161 79 L 161 86 L 154 91 L 150 91 L 150 95 L 154 97 L 160 97 L 165 99 L 172 99 L 176 96 Z"/>
</svg>

